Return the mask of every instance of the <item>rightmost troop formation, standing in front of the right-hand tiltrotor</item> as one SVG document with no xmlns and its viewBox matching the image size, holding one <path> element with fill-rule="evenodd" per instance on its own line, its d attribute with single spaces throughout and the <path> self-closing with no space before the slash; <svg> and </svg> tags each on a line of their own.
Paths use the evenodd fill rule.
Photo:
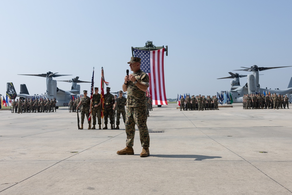
<svg viewBox="0 0 292 195">
<path fill-rule="evenodd" d="M 281 94 L 244 94 L 243 109 L 289 109 L 289 98 Z"/>
</svg>

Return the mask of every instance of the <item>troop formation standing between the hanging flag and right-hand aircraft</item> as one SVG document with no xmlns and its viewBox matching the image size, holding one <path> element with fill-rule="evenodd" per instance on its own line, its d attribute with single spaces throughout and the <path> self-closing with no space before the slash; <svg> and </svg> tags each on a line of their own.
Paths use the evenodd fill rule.
<svg viewBox="0 0 292 195">
<path fill-rule="evenodd" d="M 180 110 L 197 110 L 197 111 L 204 111 L 204 110 L 219 110 L 218 109 L 218 98 L 216 96 L 192 96 L 190 97 L 187 95 L 186 98 L 181 96 L 180 98 Z"/>
</svg>

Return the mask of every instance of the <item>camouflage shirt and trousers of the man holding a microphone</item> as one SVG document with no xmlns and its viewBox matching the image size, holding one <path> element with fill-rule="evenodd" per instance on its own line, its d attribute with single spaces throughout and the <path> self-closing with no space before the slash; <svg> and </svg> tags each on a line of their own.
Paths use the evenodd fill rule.
<svg viewBox="0 0 292 195">
<path fill-rule="evenodd" d="M 132 75 L 142 84 L 149 86 L 149 77 L 141 69 Z M 150 137 L 146 124 L 146 92 L 140 90 L 132 81 L 128 82 L 127 91 L 128 96 L 125 124 L 127 134 L 126 146 L 134 145 L 136 124 L 140 133 L 141 145 L 142 147 L 148 148 L 150 145 Z"/>
</svg>

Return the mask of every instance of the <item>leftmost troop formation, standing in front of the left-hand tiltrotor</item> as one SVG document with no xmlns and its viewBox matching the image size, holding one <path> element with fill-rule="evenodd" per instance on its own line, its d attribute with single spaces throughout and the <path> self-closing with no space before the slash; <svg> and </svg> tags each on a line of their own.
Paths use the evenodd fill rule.
<svg viewBox="0 0 292 195">
<path fill-rule="evenodd" d="M 41 113 L 41 112 L 54 112 L 56 111 L 57 101 L 54 99 L 15 99 L 11 104 L 12 113 Z"/>
</svg>

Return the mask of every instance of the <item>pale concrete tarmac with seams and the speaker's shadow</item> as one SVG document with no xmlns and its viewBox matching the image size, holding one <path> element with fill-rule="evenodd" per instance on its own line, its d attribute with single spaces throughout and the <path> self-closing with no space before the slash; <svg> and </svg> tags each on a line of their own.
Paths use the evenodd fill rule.
<svg viewBox="0 0 292 195">
<path fill-rule="evenodd" d="M 120 130 L 87 130 L 86 124 L 78 130 L 77 113 L 65 108 L 0 111 L 0 195 L 291 195 L 292 109 L 241 105 L 214 111 L 153 106 L 146 158 L 138 130 L 135 155 L 116 154 L 126 144 L 122 119 Z"/>
</svg>

